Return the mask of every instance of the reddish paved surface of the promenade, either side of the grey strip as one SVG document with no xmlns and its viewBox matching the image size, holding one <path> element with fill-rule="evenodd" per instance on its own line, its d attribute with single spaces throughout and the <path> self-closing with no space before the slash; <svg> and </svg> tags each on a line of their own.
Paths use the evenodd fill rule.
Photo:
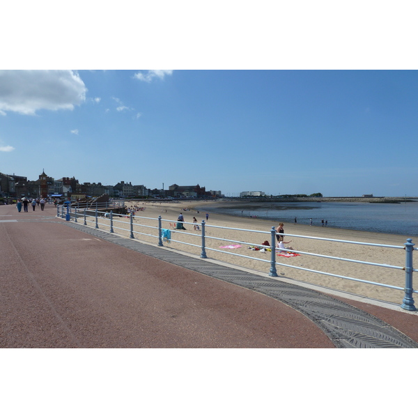
<svg viewBox="0 0 418 418">
<path fill-rule="evenodd" d="M 277 300 L 29 210 L 0 207 L 1 348 L 334 347 Z M 418 341 L 418 316 L 345 301 Z"/>
</svg>

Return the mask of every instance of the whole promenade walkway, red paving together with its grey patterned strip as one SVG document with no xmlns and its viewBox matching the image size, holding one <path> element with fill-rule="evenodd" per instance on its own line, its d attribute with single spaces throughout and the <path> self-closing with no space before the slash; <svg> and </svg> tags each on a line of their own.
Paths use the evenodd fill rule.
<svg viewBox="0 0 418 418">
<path fill-rule="evenodd" d="M 418 314 L 0 206 L 1 348 L 418 348 Z"/>
</svg>

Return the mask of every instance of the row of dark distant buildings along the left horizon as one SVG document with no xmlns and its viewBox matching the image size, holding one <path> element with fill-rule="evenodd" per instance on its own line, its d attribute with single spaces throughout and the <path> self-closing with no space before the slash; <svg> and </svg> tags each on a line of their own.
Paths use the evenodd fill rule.
<svg viewBox="0 0 418 418">
<path fill-rule="evenodd" d="M 110 197 L 120 199 L 126 197 L 171 197 L 182 198 L 209 198 L 222 196 L 220 191 L 206 191 L 206 187 L 171 185 L 168 190 L 147 189 L 144 185 L 132 185 L 121 181 L 116 185 L 102 185 L 102 183 L 79 183 L 75 177 L 52 178 L 45 174 L 39 175 L 38 180 L 28 180 L 15 174 L 0 173 L 0 196 L 12 199 L 22 197 L 52 197 L 70 198 L 72 200 L 109 194 Z"/>
</svg>

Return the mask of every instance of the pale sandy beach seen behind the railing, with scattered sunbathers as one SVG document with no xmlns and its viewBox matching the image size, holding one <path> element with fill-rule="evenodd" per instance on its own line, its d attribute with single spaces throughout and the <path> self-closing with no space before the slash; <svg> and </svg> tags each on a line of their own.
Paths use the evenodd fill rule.
<svg viewBox="0 0 418 418">
<path fill-rule="evenodd" d="M 261 245 L 265 240 L 271 243 L 270 231 L 272 226 L 278 226 L 277 222 L 265 219 L 250 217 L 234 217 L 231 215 L 222 215 L 208 211 L 209 218 L 206 221 L 206 212 L 198 213 L 196 207 L 210 205 L 219 205 L 217 202 L 127 202 L 128 208 L 134 206 L 144 207 L 145 210 L 137 211 L 134 219 L 134 238 L 149 242 L 154 245 L 158 240 L 157 222 L 153 219 L 161 215 L 162 228 L 171 230 L 170 242 L 164 241 L 164 247 L 184 251 L 188 254 L 200 256 L 201 254 L 201 231 L 195 231 L 192 224 L 193 217 L 196 217 L 198 224 L 204 219 L 206 222 L 206 254 L 208 259 L 215 259 L 231 265 L 237 265 L 240 268 L 247 268 L 268 274 L 270 272 L 270 251 L 260 252 L 249 249 L 251 245 Z M 231 202 L 228 202 L 230 205 Z M 185 231 L 175 229 L 175 224 L 180 212 L 185 219 Z M 93 218 L 89 219 L 88 225 L 94 226 Z M 116 222 L 118 221 L 118 222 Z M 123 222 L 123 224 L 121 224 Z M 149 226 L 153 226 L 150 228 Z M 100 218 L 99 228 L 106 230 L 109 228 L 109 220 Z M 128 231 L 123 231 L 127 229 Z M 245 229 L 247 231 L 236 231 L 235 229 Z M 114 232 L 120 235 L 130 235 L 130 219 L 126 217 L 114 217 Z M 138 231 L 138 232 L 137 232 Z M 257 232 L 254 232 L 257 231 Z M 260 231 L 260 232 L 258 232 Z M 348 258 L 351 260 L 366 261 L 369 263 L 381 263 L 385 265 L 395 265 L 403 267 L 405 264 L 405 251 L 403 249 L 392 249 L 386 247 L 371 247 L 366 245 L 355 245 L 342 242 L 332 242 L 326 240 L 314 240 L 309 238 L 293 237 L 289 235 L 305 235 L 309 237 L 328 238 L 334 240 L 348 240 L 355 242 L 371 242 L 385 245 L 398 245 L 403 247 L 407 236 L 393 235 L 384 233 L 369 233 L 364 231 L 352 231 L 346 229 L 335 229 L 321 226 L 309 226 L 301 224 L 284 224 L 285 242 L 290 241 L 293 249 L 310 254 L 322 254 L 334 256 L 337 258 Z M 216 238 L 216 239 L 215 239 Z M 190 245 L 176 242 L 188 242 Z M 249 243 L 249 244 L 245 244 Z M 415 242 L 414 242 L 415 243 Z M 416 244 L 416 243 L 415 243 Z M 227 245 L 241 245 L 234 249 L 221 248 Z M 222 251 L 222 252 L 221 252 Z M 237 254 L 238 256 L 234 255 Z M 258 258 L 254 260 L 252 258 Z M 394 302 L 401 304 L 403 291 L 384 288 L 371 284 L 363 284 L 358 281 L 341 279 L 339 277 L 327 276 L 314 272 L 298 270 L 305 268 L 328 272 L 330 274 L 339 274 L 341 276 L 353 277 L 355 279 L 376 281 L 383 284 L 402 287 L 405 285 L 404 270 L 393 268 L 382 268 L 374 265 L 363 265 L 359 263 L 350 263 L 329 258 L 322 258 L 307 254 L 293 256 L 290 258 L 277 256 L 276 266 L 279 279 L 286 278 L 294 281 L 302 281 L 317 286 L 323 286 L 324 291 L 327 288 L 338 291 L 352 293 L 354 295 L 370 297 L 376 300 Z M 297 267 L 297 268 L 292 268 Z"/>
</svg>

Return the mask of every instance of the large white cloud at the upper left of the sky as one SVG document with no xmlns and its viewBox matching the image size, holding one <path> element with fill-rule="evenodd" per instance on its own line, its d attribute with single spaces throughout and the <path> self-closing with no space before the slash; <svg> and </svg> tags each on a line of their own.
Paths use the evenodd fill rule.
<svg viewBox="0 0 418 418">
<path fill-rule="evenodd" d="M 0 70 L 0 112 L 34 115 L 37 110 L 74 109 L 87 88 L 72 70 Z"/>
</svg>

